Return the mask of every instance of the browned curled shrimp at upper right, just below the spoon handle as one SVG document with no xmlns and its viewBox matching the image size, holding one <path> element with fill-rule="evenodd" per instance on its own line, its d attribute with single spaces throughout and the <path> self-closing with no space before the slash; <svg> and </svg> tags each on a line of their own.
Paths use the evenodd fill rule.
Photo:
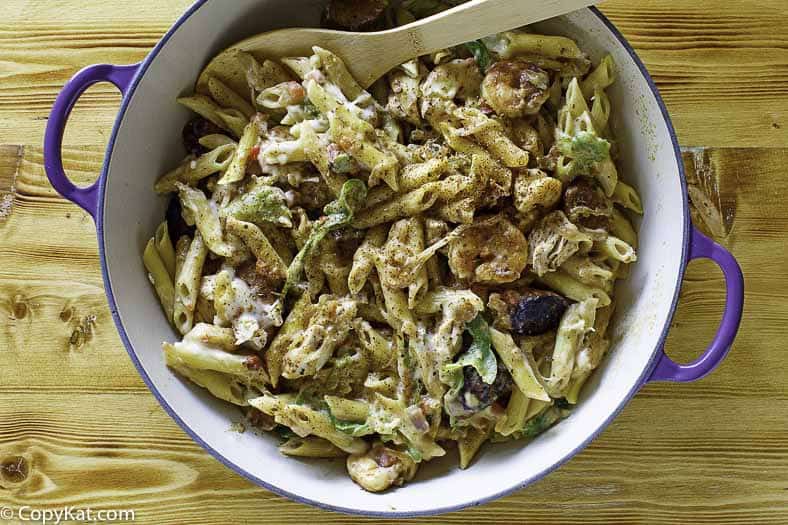
<svg viewBox="0 0 788 525">
<path fill-rule="evenodd" d="M 482 82 L 482 97 L 505 117 L 534 115 L 550 97 L 550 76 L 523 60 L 495 63 Z"/>
</svg>

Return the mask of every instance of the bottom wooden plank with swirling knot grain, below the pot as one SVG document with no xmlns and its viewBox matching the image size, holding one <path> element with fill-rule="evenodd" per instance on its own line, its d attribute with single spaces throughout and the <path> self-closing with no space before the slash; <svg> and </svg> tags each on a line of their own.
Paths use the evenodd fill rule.
<svg viewBox="0 0 788 525">
<path fill-rule="evenodd" d="M 648 387 L 652 388 L 652 387 Z M 197 447 L 136 394 L 7 394 L 0 463 L 28 475 L 0 480 L 0 506 L 133 509 L 138 523 L 356 523 L 279 498 Z M 441 523 L 775 523 L 788 520 L 788 402 L 674 402 L 639 396 L 567 465 L 503 500 Z M 648 423 L 646 423 L 648 422 Z M 753 425 L 768 428 L 752 433 Z M 229 423 L 228 423 L 229 427 Z M 229 431 L 229 430 L 228 430 Z M 699 438 L 702 436 L 702 438 Z M 411 520 L 420 523 L 424 520 Z"/>
</svg>

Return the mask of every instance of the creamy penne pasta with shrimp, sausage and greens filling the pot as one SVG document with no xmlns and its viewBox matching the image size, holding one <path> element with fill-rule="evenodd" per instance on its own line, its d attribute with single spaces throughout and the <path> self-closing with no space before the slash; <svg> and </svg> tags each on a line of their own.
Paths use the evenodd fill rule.
<svg viewBox="0 0 788 525">
<path fill-rule="evenodd" d="M 567 417 L 642 213 L 611 57 L 523 29 L 368 90 L 319 47 L 226 67 L 178 100 L 188 155 L 154 188 L 173 196 L 143 255 L 182 335 L 167 365 L 370 491 Z"/>
</svg>

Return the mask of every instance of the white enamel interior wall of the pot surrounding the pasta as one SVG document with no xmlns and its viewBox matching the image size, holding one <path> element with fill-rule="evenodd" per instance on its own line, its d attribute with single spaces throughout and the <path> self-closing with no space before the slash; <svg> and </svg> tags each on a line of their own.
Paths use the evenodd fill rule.
<svg viewBox="0 0 788 525">
<path fill-rule="evenodd" d="M 207 60 L 226 45 L 276 27 L 316 25 L 314 0 L 209 0 L 188 18 L 150 63 L 120 123 L 104 199 L 104 253 L 117 314 L 148 380 L 170 410 L 227 462 L 290 495 L 349 511 L 419 513 L 478 503 L 540 477 L 600 430 L 637 388 L 668 325 L 682 267 L 686 209 L 677 160 L 659 104 L 615 35 L 585 10 L 541 24 L 576 39 L 597 61 L 611 53 L 618 82 L 609 90 L 620 172 L 639 189 L 640 260 L 621 282 L 614 345 L 571 417 L 522 442 L 486 446 L 466 471 L 450 453 L 416 480 L 373 495 L 347 477 L 342 462 L 282 456 L 276 436 L 229 430 L 237 408 L 182 382 L 164 366 L 161 342 L 175 341 L 149 286 L 140 254 L 162 220 L 165 200 L 154 180 L 184 155 L 181 128 L 189 114 L 175 98 L 190 92 Z"/>
</svg>

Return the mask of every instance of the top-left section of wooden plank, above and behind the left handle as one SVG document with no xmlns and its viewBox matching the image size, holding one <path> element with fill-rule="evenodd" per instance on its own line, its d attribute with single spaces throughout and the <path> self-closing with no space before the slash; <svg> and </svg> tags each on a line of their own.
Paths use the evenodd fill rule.
<svg viewBox="0 0 788 525">
<path fill-rule="evenodd" d="M 191 0 L 5 0 L 0 20 L 0 142 L 39 144 L 52 102 L 79 69 L 142 60 Z M 120 96 L 99 84 L 74 109 L 65 141 L 106 143 Z"/>
</svg>

